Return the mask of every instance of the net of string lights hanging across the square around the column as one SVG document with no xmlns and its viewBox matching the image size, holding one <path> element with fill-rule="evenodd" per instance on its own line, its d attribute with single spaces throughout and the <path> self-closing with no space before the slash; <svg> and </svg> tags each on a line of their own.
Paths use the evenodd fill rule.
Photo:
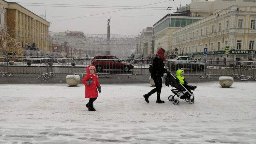
<svg viewBox="0 0 256 144">
<path fill-rule="evenodd" d="M 63 32 L 49 32 L 52 37 L 59 41 L 67 42 L 69 46 L 93 51 L 111 51 L 115 54 L 120 51 L 134 51 L 136 45 L 151 42 L 154 40 L 152 35 L 110 35 L 107 34 L 84 34 L 83 36 L 67 35 Z M 50 38 L 51 39 L 51 38 Z"/>
</svg>

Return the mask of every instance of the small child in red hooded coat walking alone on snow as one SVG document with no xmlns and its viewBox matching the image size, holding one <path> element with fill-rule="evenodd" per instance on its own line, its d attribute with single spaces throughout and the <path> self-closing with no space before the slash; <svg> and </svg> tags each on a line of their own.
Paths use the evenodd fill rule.
<svg viewBox="0 0 256 144">
<path fill-rule="evenodd" d="M 86 107 L 89 111 L 96 111 L 93 107 L 93 102 L 98 97 L 98 91 L 101 92 L 100 83 L 97 75 L 95 75 L 96 68 L 94 65 L 90 65 L 86 68 L 87 75 L 83 79 L 85 85 L 85 98 L 90 98 Z M 98 88 L 98 91 L 97 91 Z"/>
</svg>

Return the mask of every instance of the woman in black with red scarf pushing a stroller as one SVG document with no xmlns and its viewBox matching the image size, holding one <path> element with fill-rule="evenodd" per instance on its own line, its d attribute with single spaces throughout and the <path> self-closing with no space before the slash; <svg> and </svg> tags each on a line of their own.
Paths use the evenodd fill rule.
<svg viewBox="0 0 256 144">
<path fill-rule="evenodd" d="M 165 61 L 165 49 L 160 48 L 153 59 L 152 73 L 151 73 L 151 78 L 154 80 L 156 88 L 152 89 L 150 92 L 143 95 L 147 103 L 149 103 L 148 97 L 150 97 L 155 92 L 157 95 L 156 103 L 165 103 L 165 101 L 162 101 L 160 99 L 160 94 L 162 89 L 162 76 L 163 76 L 163 73 L 167 73 L 169 69 L 164 68 L 163 61 Z"/>
</svg>

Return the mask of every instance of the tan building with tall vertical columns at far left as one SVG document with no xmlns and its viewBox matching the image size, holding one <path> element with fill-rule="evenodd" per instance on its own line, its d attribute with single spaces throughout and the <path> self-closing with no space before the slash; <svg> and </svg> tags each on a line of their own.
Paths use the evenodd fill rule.
<svg viewBox="0 0 256 144">
<path fill-rule="evenodd" d="M 49 22 L 15 2 L 0 0 L 6 8 L 5 23 L 8 33 L 20 42 L 23 48 L 35 42 L 40 51 L 49 53 Z"/>
</svg>

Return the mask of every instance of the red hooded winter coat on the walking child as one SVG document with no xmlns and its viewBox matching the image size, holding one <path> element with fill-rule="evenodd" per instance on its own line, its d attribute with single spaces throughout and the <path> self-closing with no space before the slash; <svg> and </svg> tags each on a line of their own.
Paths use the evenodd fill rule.
<svg viewBox="0 0 256 144">
<path fill-rule="evenodd" d="M 83 84 L 85 85 L 85 98 L 97 98 L 98 97 L 97 86 L 99 86 L 100 83 L 97 75 L 93 75 L 93 74 L 90 75 L 90 71 L 89 71 L 90 67 L 94 67 L 94 69 L 96 70 L 94 65 L 87 66 L 86 68 L 87 75 L 83 79 Z M 95 71 L 94 71 L 94 74 L 95 74 Z M 93 83 L 90 85 L 87 85 L 86 81 L 88 81 L 90 77 L 93 78 Z"/>
</svg>

